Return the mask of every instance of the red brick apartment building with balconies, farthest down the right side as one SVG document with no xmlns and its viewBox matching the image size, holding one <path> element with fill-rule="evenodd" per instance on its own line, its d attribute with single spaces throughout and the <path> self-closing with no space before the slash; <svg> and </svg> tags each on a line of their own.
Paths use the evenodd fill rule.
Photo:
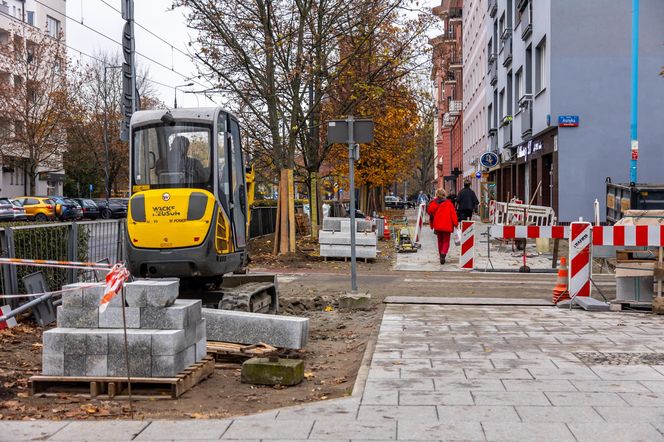
<svg viewBox="0 0 664 442">
<path fill-rule="evenodd" d="M 432 38 L 434 118 L 434 181 L 457 193 L 463 187 L 463 0 L 442 0 L 432 10 L 443 33 Z"/>
</svg>

